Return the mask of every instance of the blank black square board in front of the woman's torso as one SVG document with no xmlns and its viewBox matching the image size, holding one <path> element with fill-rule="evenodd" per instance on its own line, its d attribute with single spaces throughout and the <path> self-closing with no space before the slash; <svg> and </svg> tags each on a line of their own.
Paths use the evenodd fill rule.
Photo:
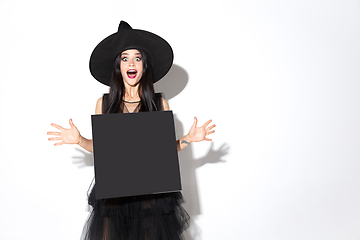
<svg viewBox="0 0 360 240">
<path fill-rule="evenodd" d="M 172 111 L 91 120 L 97 199 L 181 190 Z"/>
</svg>

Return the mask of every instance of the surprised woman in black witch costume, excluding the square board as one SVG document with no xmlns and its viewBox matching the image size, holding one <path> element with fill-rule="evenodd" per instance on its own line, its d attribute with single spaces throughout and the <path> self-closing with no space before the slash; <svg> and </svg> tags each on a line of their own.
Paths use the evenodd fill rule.
<svg viewBox="0 0 360 240">
<path fill-rule="evenodd" d="M 95 113 L 169 110 L 161 94 L 155 94 L 153 83 L 168 72 L 172 60 L 172 49 L 164 39 L 147 31 L 132 29 L 121 21 L 118 32 L 100 42 L 90 58 L 92 75 L 98 81 L 110 85 L 109 94 L 104 94 L 97 101 Z M 192 142 L 211 141 L 207 135 L 214 132 L 212 129 L 215 125 L 208 127 L 210 122 L 198 127 L 195 118 L 189 133 L 177 140 L 178 151 Z M 78 144 L 92 152 L 92 140 L 82 137 L 71 119 L 69 123 L 70 129 L 51 124 L 59 131 L 48 132 L 48 135 L 55 136 L 49 138 L 49 141 L 59 141 L 55 146 Z M 181 193 L 97 200 L 94 189 L 92 186 L 88 194 L 92 210 L 84 227 L 83 239 L 182 238 L 189 216 L 181 206 Z"/>
</svg>

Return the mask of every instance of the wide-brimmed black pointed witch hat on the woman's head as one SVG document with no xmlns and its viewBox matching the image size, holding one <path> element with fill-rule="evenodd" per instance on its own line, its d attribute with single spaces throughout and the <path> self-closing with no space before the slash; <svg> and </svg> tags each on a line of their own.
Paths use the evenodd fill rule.
<svg viewBox="0 0 360 240">
<path fill-rule="evenodd" d="M 121 21 L 118 31 L 102 40 L 92 52 L 91 75 L 109 86 L 115 58 L 128 49 L 143 50 L 149 55 L 154 83 L 166 75 L 173 63 L 174 54 L 167 41 L 154 33 L 132 29 L 127 22 Z"/>
</svg>

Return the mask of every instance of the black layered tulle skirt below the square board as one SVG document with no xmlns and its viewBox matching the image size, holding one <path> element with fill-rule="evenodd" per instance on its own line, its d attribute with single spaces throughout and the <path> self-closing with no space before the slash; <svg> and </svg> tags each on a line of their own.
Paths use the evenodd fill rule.
<svg viewBox="0 0 360 240">
<path fill-rule="evenodd" d="M 88 193 L 83 240 L 177 240 L 188 227 L 180 192 L 97 200 Z"/>
</svg>

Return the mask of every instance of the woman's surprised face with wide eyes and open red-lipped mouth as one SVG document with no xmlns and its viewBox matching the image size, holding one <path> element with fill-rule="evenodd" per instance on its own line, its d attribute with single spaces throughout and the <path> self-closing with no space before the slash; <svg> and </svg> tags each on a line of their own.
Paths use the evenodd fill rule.
<svg viewBox="0 0 360 240">
<path fill-rule="evenodd" d="M 136 86 L 143 73 L 141 54 L 136 49 L 123 51 L 120 55 L 120 71 L 125 83 Z"/>
</svg>

